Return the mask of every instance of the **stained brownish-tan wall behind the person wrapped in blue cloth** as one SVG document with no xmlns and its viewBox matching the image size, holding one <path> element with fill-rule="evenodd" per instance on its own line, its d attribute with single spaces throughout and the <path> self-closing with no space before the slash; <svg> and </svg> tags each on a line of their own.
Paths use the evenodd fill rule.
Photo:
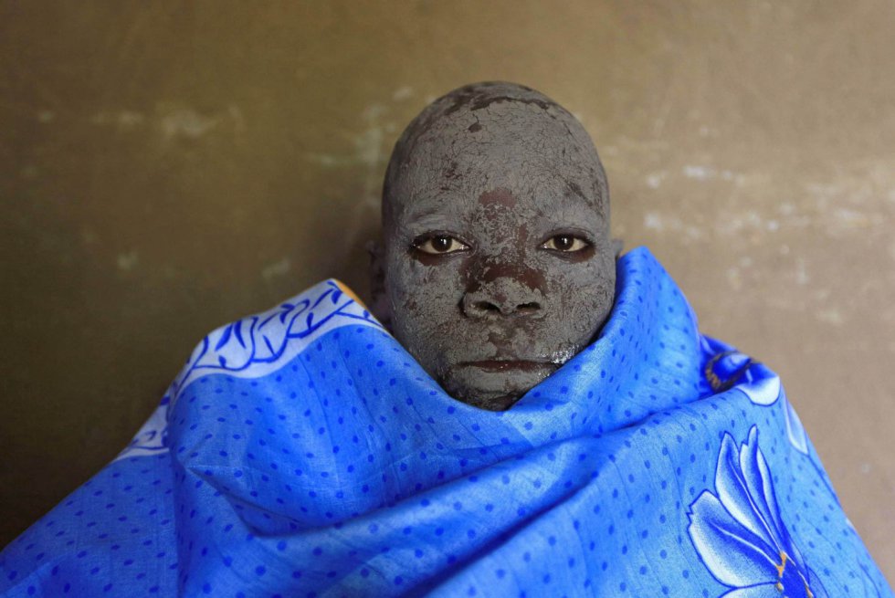
<svg viewBox="0 0 895 598">
<path fill-rule="evenodd" d="M 0 3 L 0 545 L 206 331 L 368 289 L 384 165 L 461 84 L 593 135 L 614 229 L 783 376 L 895 580 L 895 4 Z"/>
</svg>

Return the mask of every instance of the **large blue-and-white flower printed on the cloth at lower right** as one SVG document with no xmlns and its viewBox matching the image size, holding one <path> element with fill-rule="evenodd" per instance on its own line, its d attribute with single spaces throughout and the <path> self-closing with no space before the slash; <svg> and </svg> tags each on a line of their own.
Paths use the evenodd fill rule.
<svg viewBox="0 0 895 598">
<path fill-rule="evenodd" d="M 690 540 L 726 598 L 827 598 L 786 530 L 752 426 L 739 448 L 725 433 L 715 491 L 690 504 Z"/>
</svg>

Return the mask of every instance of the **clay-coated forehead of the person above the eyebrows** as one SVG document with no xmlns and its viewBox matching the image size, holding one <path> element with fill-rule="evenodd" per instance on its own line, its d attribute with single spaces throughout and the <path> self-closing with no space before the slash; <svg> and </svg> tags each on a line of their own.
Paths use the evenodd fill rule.
<svg viewBox="0 0 895 598">
<path fill-rule="evenodd" d="M 399 219 L 469 207 L 508 190 L 521 211 L 573 210 L 605 218 L 605 175 L 590 137 L 564 113 L 523 102 L 458 110 L 426 123 L 395 164 Z"/>
</svg>

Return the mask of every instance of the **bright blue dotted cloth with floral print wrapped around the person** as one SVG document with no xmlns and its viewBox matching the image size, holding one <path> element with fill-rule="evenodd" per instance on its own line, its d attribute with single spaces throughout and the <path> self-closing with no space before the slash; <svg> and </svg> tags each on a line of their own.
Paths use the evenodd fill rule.
<svg viewBox="0 0 895 598">
<path fill-rule="evenodd" d="M 891 596 L 780 385 L 646 249 L 503 413 L 336 281 L 201 342 L 119 458 L 0 554 L 6 596 Z"/>
</svg>

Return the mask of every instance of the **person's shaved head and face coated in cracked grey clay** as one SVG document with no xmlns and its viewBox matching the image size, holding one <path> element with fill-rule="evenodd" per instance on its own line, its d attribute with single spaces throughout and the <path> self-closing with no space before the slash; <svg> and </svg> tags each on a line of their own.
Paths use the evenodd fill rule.
<svg viewBox="0 0 895 598">
<path fill-rule="evenodd" d="M 374 284 L 447 393 L 503 410 L 581 351 L 612 308 L 603 166 L 581 124 L 511 83 L 451 91 L 395 145 Z"/>
</svg>

